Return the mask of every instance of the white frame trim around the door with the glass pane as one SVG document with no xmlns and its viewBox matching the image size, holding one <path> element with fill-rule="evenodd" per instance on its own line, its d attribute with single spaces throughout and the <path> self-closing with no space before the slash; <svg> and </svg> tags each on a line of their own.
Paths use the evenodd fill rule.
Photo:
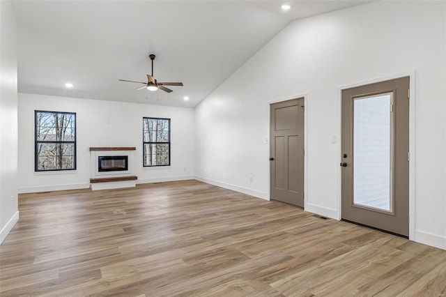
<svg viewBox="0 0 446 297">
<path fill-rule="evenodd" d="M 409 70 L 404 73 L 397 73 L 394 75 L 388 75 L 385 77 L 377 77 L 374 79 L 368 79 L 353 84 L 346 84 L 338 87 L 339 92 L 339 143 L 337 146 L 337 155 L 339 162 L 341 162 L 341 112 L 342 112 L 342 90 L 351 89 L 356 86 L 362 86 L 364 84 L 374 84 L 376 82 L 383 82 L 389 79 L 397 79 L 399 77 L 409 77 L 409 239 L 415 241 L 415 70 Z M 338 163 L 339 163 L 338 162 Z M 341 220 L 341 204 L 342 204 L 342 189 L 341 189 L 341 167 L 338 167 L 338 195 L 337 195 L 337 219 Z"/>
</svg>

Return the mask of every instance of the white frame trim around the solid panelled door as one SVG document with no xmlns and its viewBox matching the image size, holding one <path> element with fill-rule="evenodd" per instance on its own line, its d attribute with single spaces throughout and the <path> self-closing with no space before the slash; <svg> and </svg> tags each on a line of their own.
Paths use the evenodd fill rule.
<svg viewBox="0 0 446 297">
<path fill-rule="evenodd" d="M 298 99 L 298 98 L 304 98 L 304 106 L 305 106 L 305 110 L 304 110 L 304 209 L 307 208 L 307 112 L 308 112 L 308 107 L 307 107 L 307 93 L 301 93 L 298 95 L 292 95 L 292 96 L 286 96 L 286 97 L 282 97 L 282 98 L 276 98 L 276 99 L 272 99 L 268 101 L 268 105 L 266 106 L 266 112 L 268 114 L 267 118 L 268 118 L 268 127 L 267 127 L 267 137 L 265 138 L 266 142 L 264 142 L 264 144 L 268 145 L 268 155 L 265 156 L 265 160 L 266 162 L 268 162 L 268 166 L 266 167 L 267 169 L 267 183 L 268 183 L 268 192 L 266 194 L 266 198 L 271 201 L 271 162 L 268 160 L 271 156 L 271 149 L 270 149 L 270 121 L 271 121 L 271 105 L 273 103 L 278 103 L 278 102 L 284 102 L 284 101 L 288 101 L 288 100 L 293 100 L 293 99 Z"/>
</svg>

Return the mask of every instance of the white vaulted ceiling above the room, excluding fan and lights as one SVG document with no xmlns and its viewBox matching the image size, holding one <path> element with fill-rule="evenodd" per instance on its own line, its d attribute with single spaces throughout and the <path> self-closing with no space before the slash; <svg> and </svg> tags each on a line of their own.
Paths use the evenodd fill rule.
<svg viewBox="0 0 446 297">
<path fill-rule="evenodd" d="M 13 1 L 19 91 L 194 107 L 291 20 L 370 1 Z M 290 3 L 283 12 L 280 6 Z M 151 73 L 183 82 L 134 91 Z M 66 82 L 74 87 L 67 89 Z M 185 102 L 184 96 L 190 100 Z"/>
</svg>

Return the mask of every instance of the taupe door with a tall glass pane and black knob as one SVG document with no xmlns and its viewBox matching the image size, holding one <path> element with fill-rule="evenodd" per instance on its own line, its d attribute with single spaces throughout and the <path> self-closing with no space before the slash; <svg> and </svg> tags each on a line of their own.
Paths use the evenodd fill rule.
<svg viewBox="0 0 446 297">
<path fill-rule="evenodd" d="M 342 90 L 341 218 L 409 235 L 409 77 Z"/>
</svg>

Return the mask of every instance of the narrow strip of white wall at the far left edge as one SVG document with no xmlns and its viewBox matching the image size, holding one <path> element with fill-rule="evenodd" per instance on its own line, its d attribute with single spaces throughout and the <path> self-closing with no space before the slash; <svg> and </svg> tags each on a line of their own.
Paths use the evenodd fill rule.
<svg viewBox="0 0 446 297">
<path fill-rule="evenodd" d="M 17 30 L 10 1 L 0 1 L 0 243 L 17 211 Z"/>
</svg>

